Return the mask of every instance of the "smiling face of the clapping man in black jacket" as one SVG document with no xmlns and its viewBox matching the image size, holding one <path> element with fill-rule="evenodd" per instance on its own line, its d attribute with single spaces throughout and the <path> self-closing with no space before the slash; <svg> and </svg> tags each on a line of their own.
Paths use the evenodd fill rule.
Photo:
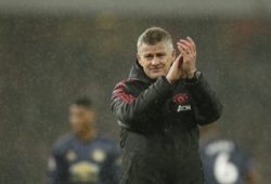
<svg viewBox="0 0 271 184">
<path fill-rule="evenodd" d="M 176 52 L 164 41 L 154 45 L 143 43 L 138 51 L 138 60 L 151 79 L 166 76 L 176 58 Z"/>
</svg>

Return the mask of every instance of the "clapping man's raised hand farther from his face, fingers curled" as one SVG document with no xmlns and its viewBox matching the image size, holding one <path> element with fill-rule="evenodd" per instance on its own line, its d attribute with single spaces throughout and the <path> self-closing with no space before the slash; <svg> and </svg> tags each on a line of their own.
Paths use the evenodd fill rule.
<svg viewBox="0 0 271 184">
<path fill-rule="evenodd" d="M 194 41 L 186 37 L 177 42 L 178 49 L 183 56 L 182 70 L 188 78 L 194 77 L 196 71 L 196 45 Z"/>
</svg>

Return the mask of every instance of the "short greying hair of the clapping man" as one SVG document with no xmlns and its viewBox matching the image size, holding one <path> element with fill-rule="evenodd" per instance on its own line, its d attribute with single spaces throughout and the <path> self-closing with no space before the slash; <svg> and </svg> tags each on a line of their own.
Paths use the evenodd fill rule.
<svg viewBox="0 0 271 184">
<path fill-rule="evenodd" d="M 170 49 L 173 50 L 172 38 L 168 31 L 160 27 L 150 27 L 139 37 L 137 44 L 138 51 L 143 43 L 155 45 L 156 43 L 162 41 L 165 41 L 170 47 Z"/>
</svg>

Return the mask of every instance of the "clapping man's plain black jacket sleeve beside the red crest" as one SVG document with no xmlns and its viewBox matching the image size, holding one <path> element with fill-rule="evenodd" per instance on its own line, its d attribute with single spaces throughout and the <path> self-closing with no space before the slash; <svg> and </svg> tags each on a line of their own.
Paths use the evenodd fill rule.
<svg viewBox="0 0 271 184">
<path fill-rule="evenodd" d="M 218 120 L 222 114 L 222 105 L 208 82 L 201 74 L 197 80 L 186 80 L 185 86 L 195 104 L 195 119 L 201 126 Z"/>
</svg>

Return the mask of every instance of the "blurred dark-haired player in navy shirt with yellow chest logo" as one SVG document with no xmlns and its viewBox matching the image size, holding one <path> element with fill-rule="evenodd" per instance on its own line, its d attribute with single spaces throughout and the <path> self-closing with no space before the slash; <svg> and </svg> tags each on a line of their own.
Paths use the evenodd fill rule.
<svg viewBox="0 0 271 184">
<path fill-rule="evenodd" d="M 61 137 L 49 160 L 51 184 L 117 184 L 119 149 L 98 137 L 95 111 L 89 98 L 78 98 L 69 108 L 73 133 Z"/>
</svg>

